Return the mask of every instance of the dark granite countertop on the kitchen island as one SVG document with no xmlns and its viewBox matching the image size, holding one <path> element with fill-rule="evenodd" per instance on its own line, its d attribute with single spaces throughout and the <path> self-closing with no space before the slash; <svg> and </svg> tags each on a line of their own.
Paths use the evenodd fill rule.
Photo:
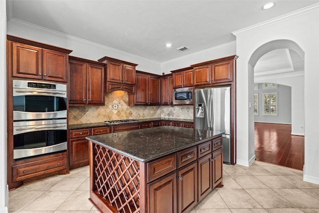
<svg viewBox="0 0 319 213">
<path fill-rule="evenodd" d="M 223 132 L 160 126 L 86 137 L 140 162 L 149 162 L 164 155 L 209 141 Z"/>
</svg>

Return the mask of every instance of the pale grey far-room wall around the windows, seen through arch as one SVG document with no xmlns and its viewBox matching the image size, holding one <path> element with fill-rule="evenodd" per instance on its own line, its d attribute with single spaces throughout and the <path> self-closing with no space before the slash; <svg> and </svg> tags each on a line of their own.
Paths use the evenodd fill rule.
<svg viewBox="0 0 319 213">
<path fill-rule="evenodd" d="M 277 116 L 263 115 L 263 93 L 265 92 L 277 92 Z M 291 124 L 292 104 L 290 86 L 278 84 L 277 88 L 263 89 L 263 83 L 260 83 L 259 89 L 254 89 L 254 93 L 259 94 L 259 114 L 254 115 L 255 122 Z"/>
</svg>

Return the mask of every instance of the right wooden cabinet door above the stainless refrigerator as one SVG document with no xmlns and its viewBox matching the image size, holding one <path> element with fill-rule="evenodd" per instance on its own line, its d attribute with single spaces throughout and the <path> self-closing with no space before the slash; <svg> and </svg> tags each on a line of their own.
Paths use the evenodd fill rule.
<svg viewBox="0 0 319 213">
<path fill-rule="evenodd" d="M 233 60 L 212 64 L 212 83 L 233 81 Z"/>
</svg>

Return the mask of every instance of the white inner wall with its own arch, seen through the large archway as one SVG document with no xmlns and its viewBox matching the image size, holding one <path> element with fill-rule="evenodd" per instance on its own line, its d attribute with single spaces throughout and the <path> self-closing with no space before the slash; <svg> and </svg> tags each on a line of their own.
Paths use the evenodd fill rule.
<svg viewBox="0 0 319 213">
<path fill-rule="evenodd" d="M 254 81 L 255 83 L 267 81 L 291 87 L 291 134 L 305 136 L 304 72 L 289 76 L 255 77 Z"/>
</svg>

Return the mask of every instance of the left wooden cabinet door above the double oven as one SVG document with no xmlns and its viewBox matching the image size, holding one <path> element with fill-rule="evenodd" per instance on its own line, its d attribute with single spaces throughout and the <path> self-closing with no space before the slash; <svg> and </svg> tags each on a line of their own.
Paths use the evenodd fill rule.
<svg viewBox="0 0 319 213">
<path fill-rule="evenodd" d="M 42 49 L 12 42 L 12 76 L 42 79 Z"/>
</svg>

